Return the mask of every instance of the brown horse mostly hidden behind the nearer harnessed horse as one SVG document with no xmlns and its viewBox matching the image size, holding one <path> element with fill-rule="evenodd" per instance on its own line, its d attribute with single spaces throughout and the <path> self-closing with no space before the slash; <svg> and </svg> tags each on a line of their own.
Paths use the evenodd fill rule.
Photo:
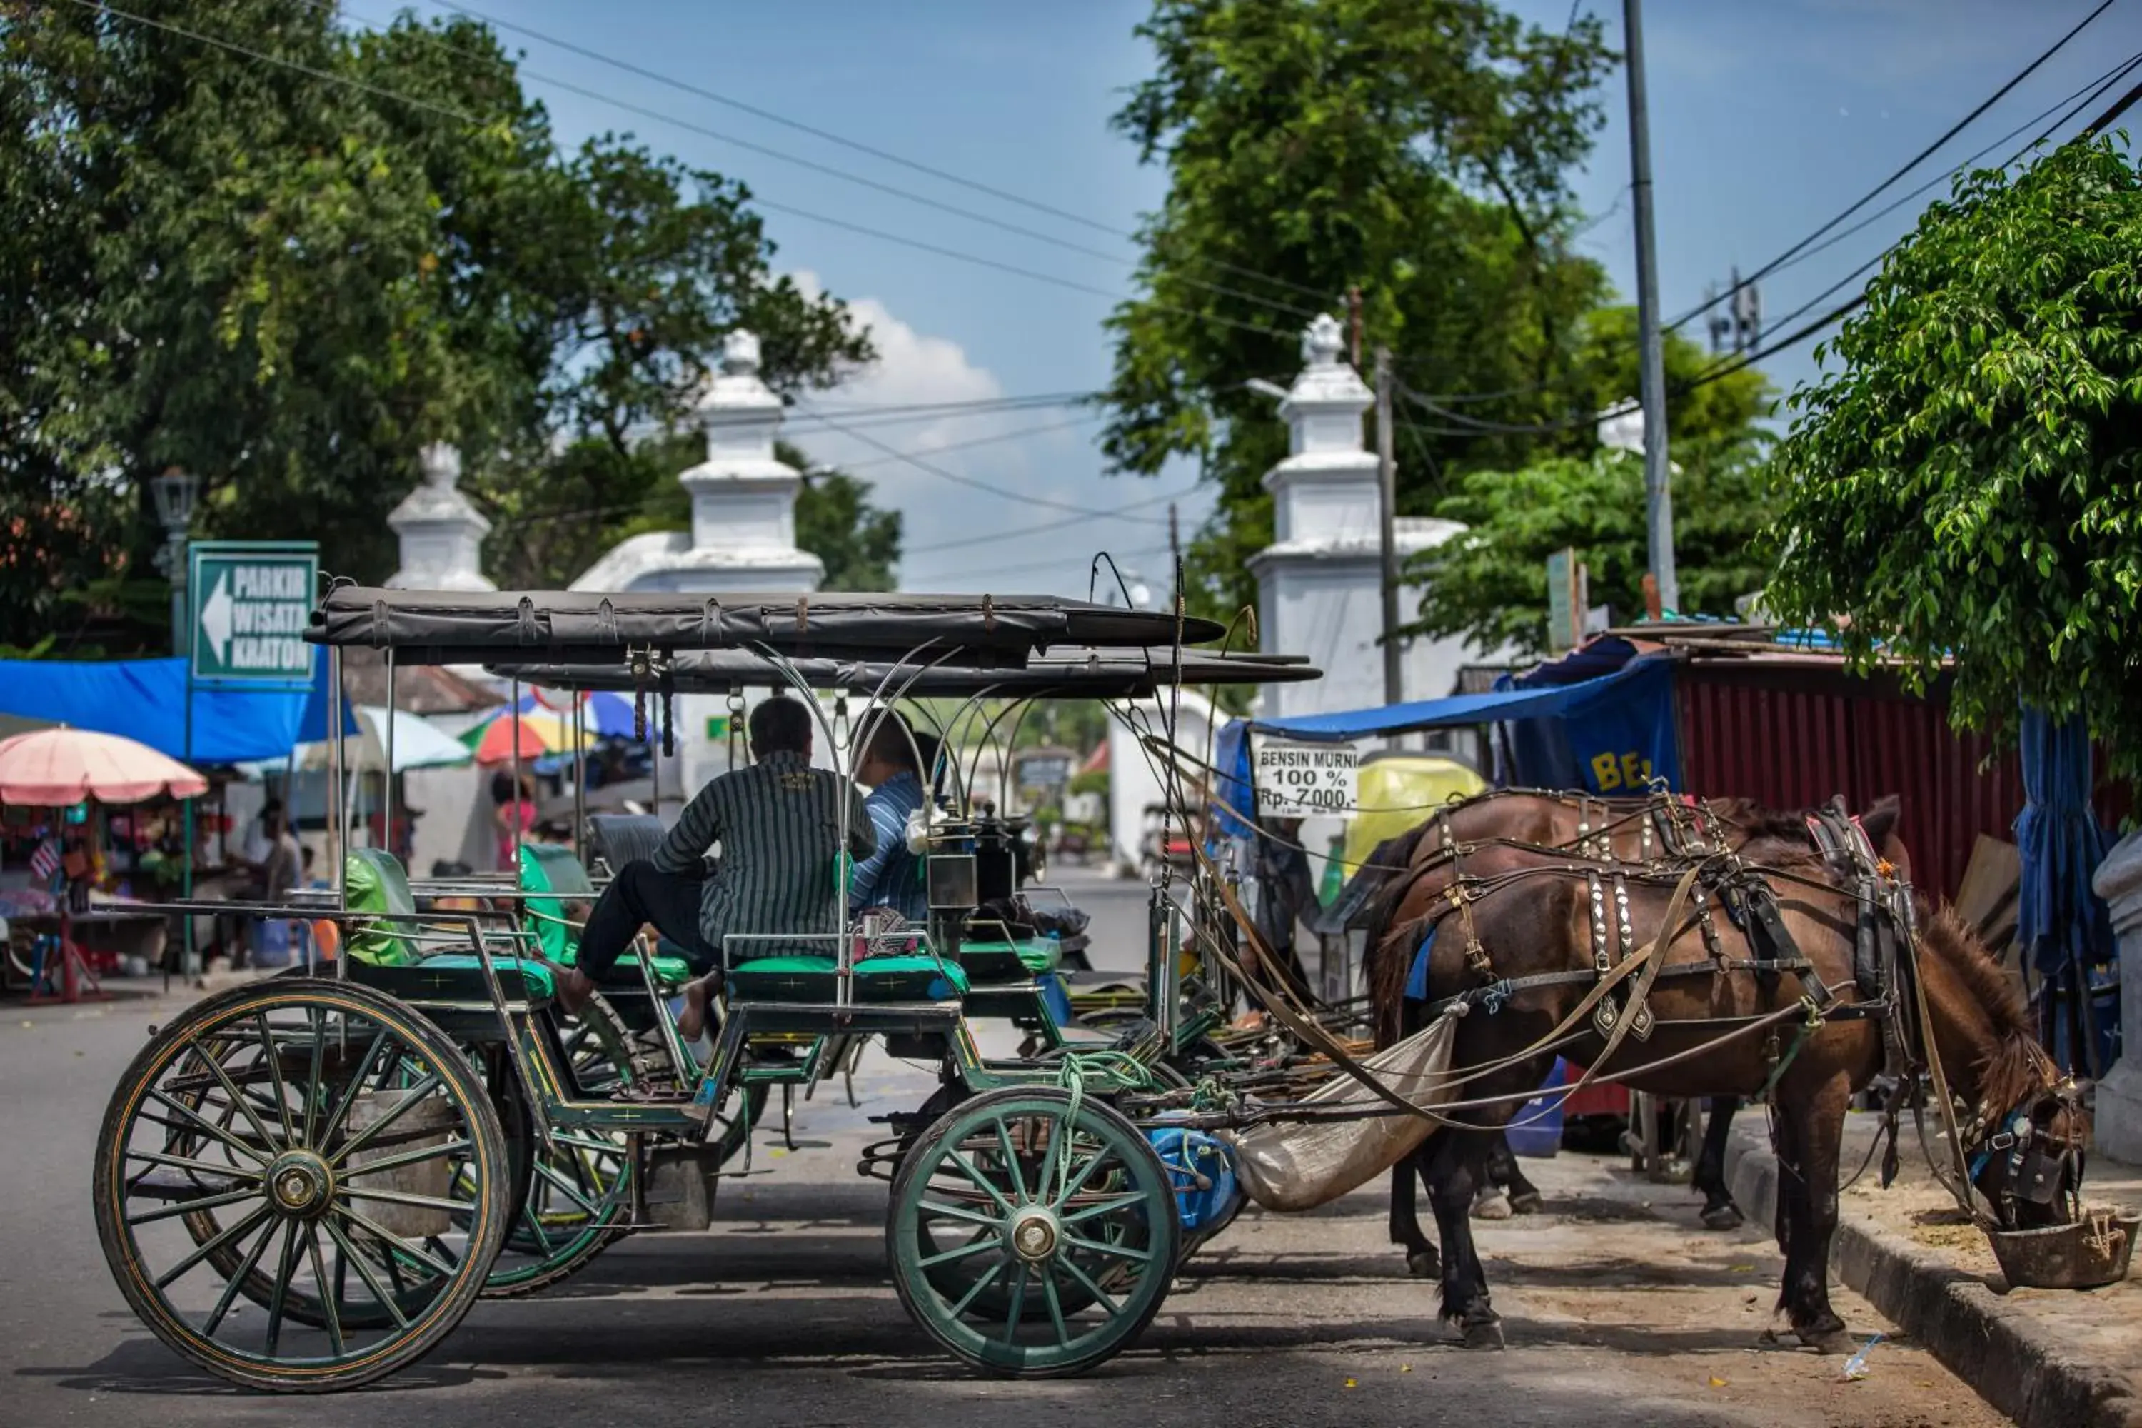
<svg viewBox="0 0 2142 1428">
<path fill-rule="evenodd" d="M 1911 878 L 1911 859 L 1894 837 L 1896 807 L 1894 796 L 1879 799 L 1864 822 L 1872 820 L 1879 835 L 1874 846 L 1902 869 L 1904 878 Z M 1643 799 L 1600 799 L 1579 792 L 1512 788 L 1476 794 L 1437 809 L 1427 822 L 1390 839 L 1369 859 L 1371 865 L 1403 869 L 1403 876 L 1388 882 L 1379 897 L 1377 921 L 1371 923 L 1369 931 L 1371 959 L 1379 942 L 1379 923 L 1388 925 L 1399 897 L 1418 886 L 1442 891 L 1457 876 L 1452 846 L 1510 841 L 1570 848 L 1624 863 L 1654 863 L 1718 846 L 1739 848 L 1748 841 L 1748 829 L 1771 826 L 1776 818 L 1750 799 L 1699 803 L 1666 792 Z M 1405 970 L 1409 963 L 1399 974 L 1403 976 Z M 1379 1040 L 1388 1045 L 1397 1034 L 1397 1021 L 1386 1015 L 1379 1023 Z M 1739 1100 L 1733 1096 L 1709 1100 L 1703 1148 L 1690 1175 L 1690 1188 L 1703 1195 L 1703 1225 L 1709 1229 L 1739 1229 L 1741 1225 L 1741 1210 L 1733 1203 L 1733 1190 L 1724 1175 L 1726 1137 L 1733 1133 L 1735 1111 L 1739 1111 Z M 1508 1186 L 1512 1210 L 1523 1214 L 1538 1207 L 1540 1192 L 1517 1167 L 1508 1137 L 1502 1133 L 1491 1143 L 1489 1169 L 1493 1186 Z M 1414 1274 L 1435 1278 L 1442 1274 L 1442 1257 L 1420 1231 L 1416 1173 L 1427 1175 L 1424 1156 L 1392 1167 L 1390 1242 L 1405 1248 L 1405 1263 Z"/>
</svg>

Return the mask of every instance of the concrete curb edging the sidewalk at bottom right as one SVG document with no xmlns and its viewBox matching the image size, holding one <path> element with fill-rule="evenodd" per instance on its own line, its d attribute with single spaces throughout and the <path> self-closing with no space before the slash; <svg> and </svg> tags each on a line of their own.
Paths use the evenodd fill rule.
<svg viewBox="0 0 2142 1428">
<path fill-rule="evenodd" d="M 1778 1160 L 1759 1133 L 1735 1128 L 1726 1184 L 1752 1222 L 1776 1222 Z M 1932 1250 L 1840 1222 L 1829 1270 L 2022 1428 L 2142 1428 L 2142 1398 L 2127 1372 L 2078 1359 L 2026 1306 Z"/>
</svg>

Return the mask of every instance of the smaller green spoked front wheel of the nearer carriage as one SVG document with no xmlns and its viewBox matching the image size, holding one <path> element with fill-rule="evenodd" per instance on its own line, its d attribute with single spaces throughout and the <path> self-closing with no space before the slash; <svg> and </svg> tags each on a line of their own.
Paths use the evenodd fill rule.
<svg viewBox="0 0 2142 1428">
<path fill-rule="evenodd" d="M 923 1130 L 893 1178 L 887 1237 L 893 1285 L 930 1338 L 1017 1379 L 1086 1372 L 1129 1347 L 1180 1248 L 1167 1169 L 1137 1126 L 1024 1088 Z"/>
</svg>

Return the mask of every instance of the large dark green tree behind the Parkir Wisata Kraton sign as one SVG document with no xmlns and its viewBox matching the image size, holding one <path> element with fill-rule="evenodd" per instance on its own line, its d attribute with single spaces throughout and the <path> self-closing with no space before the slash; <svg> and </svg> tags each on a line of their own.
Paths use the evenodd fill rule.
<svg viewBox="0 0 2142 1428">
<path fill-rule="evenodd" d="M 0 638 L 146 578 L 165 467 L 203 477 L 195 535 L 315 537 L 377 580 L 418 447 L 454 441 L 512 580 L 636 516 L 664 460 L 632 432 L 675 424 L 735 325 L 780 392 L 870 358 L 838 300 L 771 274 L 739 184 L 628 139 L 561 154 L 476 21 L 129 9 L 268 60 L 4 9 Z"/>
</svg>

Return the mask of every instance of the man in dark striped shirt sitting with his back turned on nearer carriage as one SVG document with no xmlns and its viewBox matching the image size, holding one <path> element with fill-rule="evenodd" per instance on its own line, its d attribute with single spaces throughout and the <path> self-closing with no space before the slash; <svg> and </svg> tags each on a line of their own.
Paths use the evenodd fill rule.
<svg viewBox="0 0 2142 1428">
<path fill-rule="evenodd" d="M 812 715 L 775 694 L 752 709 L 752 764 L 707 781 L 651 859 L 617 869 L 580 931 L 576 966 L 561 968 L 559 1006 L 578 1011 L 600 978 L 653 925 L 685 951 L 705 976 L 685 983 L 677 1028 L 698 1040 L 707 1002 L 722 976 L 722 938 L 730 933 L 833 933 L 840 884 L 833 856 L 842 850 L 846 801 L 848 852 L 868 859 L 878 839 L 855 784 L 812 769 Z M 722 846 L 720 871 L 707 873 L 707 850 Z M 741 951 L 752 957 L 754 951 Z"/>
</svg>

